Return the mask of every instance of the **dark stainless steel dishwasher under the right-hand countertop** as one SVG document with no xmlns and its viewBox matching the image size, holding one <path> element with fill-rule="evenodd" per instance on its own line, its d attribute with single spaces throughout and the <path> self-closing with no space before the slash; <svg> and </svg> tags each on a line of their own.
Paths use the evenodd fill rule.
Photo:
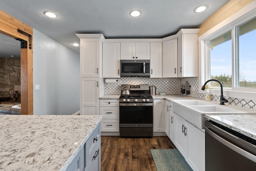
<svg viewBox="0 0 256 171">
<path fill-rule="evenodd" d="M 206 171 L 255 171 L 256 140 L 208 120 L 205 129 Z"/>
</svg>

